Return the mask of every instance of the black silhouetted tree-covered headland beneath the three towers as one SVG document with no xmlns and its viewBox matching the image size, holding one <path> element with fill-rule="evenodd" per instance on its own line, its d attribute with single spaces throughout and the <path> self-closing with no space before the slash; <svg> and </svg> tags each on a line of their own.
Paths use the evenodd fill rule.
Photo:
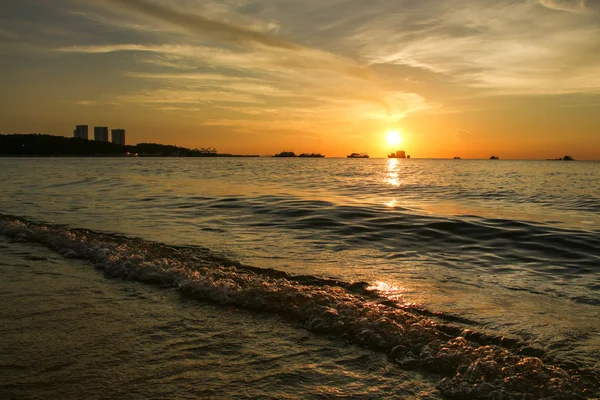
<svg viewBox="0 0 600 400">
<path fill-rule="evenodd" d="M 46 134 L 0 135 L 0 155 L 3 156 L 164 156 L 164 157 L 219 157 L 214 148 L 188 149 L 157 143 L 138 143 L 121 146 L 80 138 Z"/>
</svg>

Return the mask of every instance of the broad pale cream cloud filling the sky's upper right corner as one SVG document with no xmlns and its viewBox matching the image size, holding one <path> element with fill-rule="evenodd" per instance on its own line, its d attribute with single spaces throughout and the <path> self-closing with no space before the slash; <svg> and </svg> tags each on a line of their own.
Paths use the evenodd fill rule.
<svg viewBox="0 0 600 400">
<path fill-rule="evenodd" d="M 480 94 L 600 92 L 598 13 L 585 12 L 591 1 L 542 3 L 571 12 L 540 12 L 537 0 L 455 0 L 443 14 L 424 12 L 431 18 L 415 31 L 402 28 L 402 19 L 382 17 L 349 40 L 374 65 L 433 72 Z"/>
</svg>

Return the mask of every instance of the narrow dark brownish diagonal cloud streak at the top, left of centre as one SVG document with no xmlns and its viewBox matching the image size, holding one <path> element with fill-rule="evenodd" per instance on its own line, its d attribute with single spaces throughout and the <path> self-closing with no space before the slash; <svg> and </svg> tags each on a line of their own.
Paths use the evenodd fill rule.
<svg viewBox="0 0 600 400">
<path fill-rule="evenodd" d="M 211 38 L 220 42 L 233 44 L 257 44 L 280 49 L 300 49 L 298 44 L 279 39 L 264 32 L 237 26 L 231 23 L 217 21 L 201 15 L 188 14 L 163 7 L 159 4 L 142 0 L 104 0 L 145 16 L 160 20 L 171 25 L 186 29 L 190 32 Z"/>
</svg>

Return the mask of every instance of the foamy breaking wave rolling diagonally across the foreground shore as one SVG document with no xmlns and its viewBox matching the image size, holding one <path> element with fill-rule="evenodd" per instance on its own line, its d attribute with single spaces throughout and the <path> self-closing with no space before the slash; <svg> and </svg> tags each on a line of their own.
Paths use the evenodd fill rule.
<svg viewBox="0 0 600 400">
<path fill-rule="evenodd" d="M 437 226 L 436 229 L 441 229 Z M 511 338 L 465 329 L 460 316 L 381 295 L 367 282 L 296 276 L 192 246 L 51 225 L 0 214 L 0 234 L 87 260 L 108 277 L 176 288 L 197 300 L 275 313 L 313 332 L 384 351 L 406 369 L 438 374 L 448 398 L 583 399 L 600 374 Z"/>
</svg>

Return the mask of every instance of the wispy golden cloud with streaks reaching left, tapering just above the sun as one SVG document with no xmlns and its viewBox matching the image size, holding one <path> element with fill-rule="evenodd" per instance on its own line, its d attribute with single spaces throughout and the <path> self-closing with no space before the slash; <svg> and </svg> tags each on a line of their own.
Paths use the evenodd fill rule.
<svg viewBox="0 0 600 400">
<path fill-rule="evenodd" d="M 326 110 L 328 118 L 398 121 L 431 106 L 415 93 L 385 88 L 375 76 L 356 74 L 351 62 L 308 48 L 226 50 L 190 45 L 105 45 L 71 46 L 58 49 L 69 53 L 146 52 L 161 57 L 176 56 L 199 69 L 223 72 L 127 72 L 137 79 L 168 85 L 169 92 L 128 95 L 121 101 L 143 104 L 166 102 L 269 102 L 302 105 Z M 350 68 L 348 71 L 346 67 Z M 195 91 L 191 94 L 191 91 Z M 217 96 L 217 93 L 221 95 Z M 243 94 L 243 97 L 232 93 Z M 248 97 L 249 96 L 249 97 Z M 273 105 L 269 105 L 272 107 Z M 233 109 L 233 107 L 231 108 Z M 239 107 L 238 107 L 239 109 Z M 240 113 L 245 113 L 239 110 Z M 255 113 L 256 114 L 256 113 Z"/>
</svg>

